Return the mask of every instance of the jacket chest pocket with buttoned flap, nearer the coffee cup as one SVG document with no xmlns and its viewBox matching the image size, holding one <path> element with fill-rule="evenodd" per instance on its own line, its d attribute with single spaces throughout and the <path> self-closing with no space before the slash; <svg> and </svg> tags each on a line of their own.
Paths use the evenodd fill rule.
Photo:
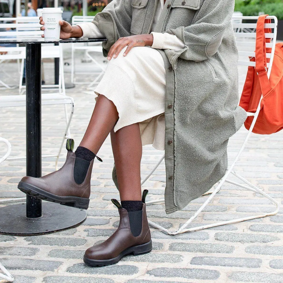
<svg viewBox="0 0 283 283">
<path fill-rule="evenodd" d="M 131 33 L 141 34 L 143 23 L 145 21 L 146 7 L 149 0 L 132 0 L 132 23 Z"/>
</svg>

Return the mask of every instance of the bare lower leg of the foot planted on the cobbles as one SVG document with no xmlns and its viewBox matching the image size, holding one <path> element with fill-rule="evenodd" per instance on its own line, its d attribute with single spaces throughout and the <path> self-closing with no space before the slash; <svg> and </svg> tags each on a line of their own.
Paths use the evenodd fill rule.
<svg viewBox="0 0 283 283">
<path fill-rule="evenodd" d="M 142 144 L 139 124 L 111 131 L 111 143 L 119 184 L 120 198 L 141 201 Z"/>
</svg>

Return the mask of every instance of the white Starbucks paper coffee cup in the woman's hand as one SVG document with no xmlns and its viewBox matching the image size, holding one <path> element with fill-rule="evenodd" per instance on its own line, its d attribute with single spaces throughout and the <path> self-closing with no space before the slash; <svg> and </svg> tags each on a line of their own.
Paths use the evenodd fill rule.
<svg viewBox="0 0 283 283">
<path fill-rule="evenodd" d="M 43 8 L 42 20 L 44 22 L 44 39 L 45 40 L 59 40 L 60 39 L 60 25 L 63 11 L 61 8 Z"/>
</svg>

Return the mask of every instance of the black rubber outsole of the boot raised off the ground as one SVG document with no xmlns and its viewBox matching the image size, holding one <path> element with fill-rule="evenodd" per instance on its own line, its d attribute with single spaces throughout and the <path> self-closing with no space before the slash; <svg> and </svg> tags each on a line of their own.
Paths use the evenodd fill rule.
<svg viewBox="0 0 283 283">
<path fill-rule="evenodd" d="M 19 183 L 18 189 L 34 198 L 60 203 L 70 207 L 88 209 L 89 206 L 89 198 L 79 198 L 76 196 L 57 196 L 22 181 Z"/>
</svg>

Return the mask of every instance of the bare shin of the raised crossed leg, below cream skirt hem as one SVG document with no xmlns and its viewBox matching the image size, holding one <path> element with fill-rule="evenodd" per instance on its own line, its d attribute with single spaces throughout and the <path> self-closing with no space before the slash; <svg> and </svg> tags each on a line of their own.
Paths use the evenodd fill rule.
<svg viewBox="0 0 283 283">
<path fill-rule="evenodd" d="M 114 103 L 104 95 L 99 95 L 80 146 L 97 154 L 118 118 Z"/>
</svg>

